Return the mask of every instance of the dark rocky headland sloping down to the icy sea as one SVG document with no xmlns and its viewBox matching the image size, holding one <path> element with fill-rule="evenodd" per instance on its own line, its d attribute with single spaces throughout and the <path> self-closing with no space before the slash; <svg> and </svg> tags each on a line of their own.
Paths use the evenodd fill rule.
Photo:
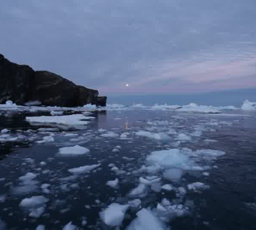
<svg viewBox="0 0 256 230">
<path fill-rule="evenodd" d="M 46 106 L 105 106 L 107 97 L 98 95 L 97 90 L 77 86 L 51 72 L 12 63 L 0 54 L 0 104 L 11 100 L 18 105 L 40 101 Z"/>
</svg>

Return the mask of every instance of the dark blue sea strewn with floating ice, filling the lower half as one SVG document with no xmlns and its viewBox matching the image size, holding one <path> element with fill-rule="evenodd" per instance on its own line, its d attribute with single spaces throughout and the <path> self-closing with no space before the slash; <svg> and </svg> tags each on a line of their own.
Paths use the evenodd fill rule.
<svg viewBox="0 0 256 230">
<path fill-rule="evenodd" d="M 255 103 L 243 108 L 0 106 L 0 229 L 254 230 Z"/>
</svg>

